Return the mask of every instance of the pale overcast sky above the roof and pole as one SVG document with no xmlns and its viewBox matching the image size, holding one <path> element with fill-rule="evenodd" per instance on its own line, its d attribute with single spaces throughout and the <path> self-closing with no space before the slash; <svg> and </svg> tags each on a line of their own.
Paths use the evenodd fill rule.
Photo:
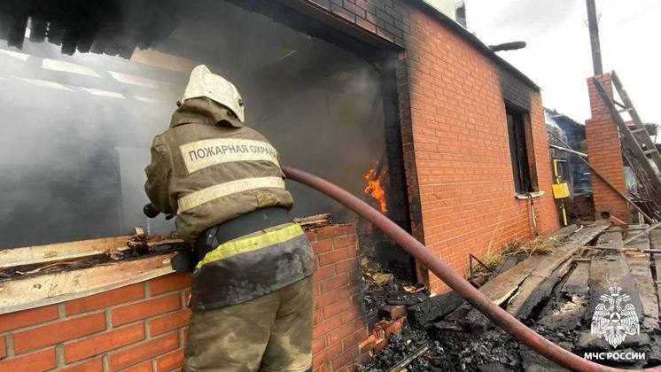
<svg viewBox="0 0 661 372">
<path fill-rule="evenodd" d="M 661 1 L 596 0 L 596 6 L 603 70 L 618 72 L 643 121 L 661 124 Z M 528 43 L 498 54 L 541 87 L 546 107 L 589 118 L 585 0 L 467 0 L 466 10 L 470 31 L 485 43 Z"/>
</svg>

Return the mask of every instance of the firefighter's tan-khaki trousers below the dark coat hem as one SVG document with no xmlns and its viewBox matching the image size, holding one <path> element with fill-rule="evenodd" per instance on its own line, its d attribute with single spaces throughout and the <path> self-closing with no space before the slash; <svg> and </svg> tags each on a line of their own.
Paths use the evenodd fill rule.
<svg viewBox="0 0 661 372">
<path fill-rule="evenodd" d="M 192 315 L 183 371 L 302 372 L 312 367 L 312 276 Z"/>
</svg>

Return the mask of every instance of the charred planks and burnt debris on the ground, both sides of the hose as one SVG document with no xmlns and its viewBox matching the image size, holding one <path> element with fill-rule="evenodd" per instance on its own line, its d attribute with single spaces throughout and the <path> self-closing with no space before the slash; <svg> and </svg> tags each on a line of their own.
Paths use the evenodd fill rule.
<svg viewBox="0 0 661 372">
<path fill-rule="evenodd" d="M 598 361 L 619 368 L 661 365 L 661 268 L 654 256 L 661 248 L 661 229 L 610 228 L 604 221 L 581 229 L 560 229 L 552 237 L 561 242 L 552 252 L 529 255 L 518 262 L 503 260 L 502 267 L 495 270 L 498 275 L 479 291 L 540 335 L 580 356 L 644 353 L 644 359 Z M 594 249 L 596 246 L 612 250 Z M 418 361 L 410 363 L 416 368 L 408 370 L 424 370 L 422 366 L 438 370 L 565 370 L 518 344 L 461 298 L 453 297 L 449 292 L 408 307 L 408 324 L 425 330 L 428 346 Z M 610 313 L 600 313 L 599 309 L 609 308 L 609 298 L 615 298 L 615 305 Z M 618 298 L 622 298 L 619 305 Z M 603 317 L 608 322 L 626 322 L 625 307 L 634 309 L 639 328 L 613 346 L 612 338 L 605 336 L 608 329 Z M 384 365 L 382 361 L 375 364 Z"/>
</svg>

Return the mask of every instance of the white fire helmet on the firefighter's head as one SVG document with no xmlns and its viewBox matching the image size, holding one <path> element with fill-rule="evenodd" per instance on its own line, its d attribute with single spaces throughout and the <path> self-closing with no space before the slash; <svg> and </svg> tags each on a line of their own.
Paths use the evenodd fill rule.
<svg viewBox="0 0 661 372">
<path fill-rule="evenodd" d="M 204 65 L 193 68 L 191 79 L 183 91 L 182 103 L 198 97 L 207 97 L 229 108 L 239 121 L 244 122 L 244 104 L 237 88 L 222 76 L 212 74 Z"/>
</svg>

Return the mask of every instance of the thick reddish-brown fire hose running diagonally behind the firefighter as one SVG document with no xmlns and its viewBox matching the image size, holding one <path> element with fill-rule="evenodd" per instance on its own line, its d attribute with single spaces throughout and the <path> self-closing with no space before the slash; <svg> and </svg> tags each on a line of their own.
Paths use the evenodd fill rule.
<svg viewBox="0 0 661 372">
<path fill-rule="evenodd" d="M 491 322 L 494 322 L 496 326 L 509 333 L 510 336 L 514 337 L 521 344 L 530 347 L 535 352 L 548 360 L 555 361 L 564 368 L 578 371 L 619 370 L 583 359 L 542 337 L 533 329 L 529 329 L 524 323 L 519 322 L 517 318 L 503 310 L 500 306 L 495 305 L 491 299 L 478 291 L 468 281 L 463 279 L 461 275 L 456 274 L 451 267 L 448 267 L 442 260 L 433 255 L 416 238 L 409 235 L 408 232 L 401 229 L 397 224 L 385 217 L 384 214 L 378 212 L 360 198 L 356 198 L 348 191 L 314 174 L 286 166 L 282 167 L 282 169 L 284 174 L 292 181 L 305 184 L 312 189 L 334 198 L 342 205 L 360 214 L 365 220 L 377 227 L 377 229 L 381 229 L 387 236 L 393 238 L 395 243 L 400 244 L 401 248 L 415 257 L 418 262 L 429 268 L 440 280 L 447 283 L 457 295 L 465 299 L 480 313 L 485 314 Z M 659 371 L 661 368 L 649 368 L 645 370 Z"/>
</svg>

